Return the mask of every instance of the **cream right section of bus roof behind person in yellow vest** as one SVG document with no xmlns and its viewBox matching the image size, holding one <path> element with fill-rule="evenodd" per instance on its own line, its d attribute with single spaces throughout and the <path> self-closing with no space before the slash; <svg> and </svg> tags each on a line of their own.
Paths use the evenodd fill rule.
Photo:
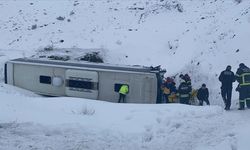
<svg viewBox="0 0 250 150">
<path fill-rule="evenodd" d="M 99 99 L 118 102 L 119 93 L 115 85 L 127 84 L 129 93 L 126 103 L 155 103 L 157 97 L 157 79 L 155 74 L 137 74 L 129 72 L 99 72 Z"/>
</svg>

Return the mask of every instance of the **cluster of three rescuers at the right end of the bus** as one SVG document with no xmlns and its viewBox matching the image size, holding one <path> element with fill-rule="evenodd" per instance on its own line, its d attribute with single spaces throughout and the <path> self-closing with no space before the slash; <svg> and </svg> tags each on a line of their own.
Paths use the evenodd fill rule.
<svg viewBox="0 0 250 150">
<path fill-rule="evenodd" d="M 167 77 L 163 82 L 163 100 L 165 103 L 177 102 L 177 99 L 181 104 L 191 104 L 195 97 L 199 100 L 199 105 L 203 105 L 203 102 L 209 103 L 209 91 L 206 84 L 202 84 L 198 90 L 192 89 L 191 78 L 188 74 L 180 74 L 180 85 L 176 87 L 176 83 L 171 77 Z"/>
</svg>

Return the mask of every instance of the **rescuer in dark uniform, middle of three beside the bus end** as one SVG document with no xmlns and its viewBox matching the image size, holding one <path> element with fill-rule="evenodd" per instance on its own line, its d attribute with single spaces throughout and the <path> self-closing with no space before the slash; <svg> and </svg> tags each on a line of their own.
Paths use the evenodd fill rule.
<svg viewBox="0 0 250 150">
<path fill-rule="evenodd" d="M 189 104 L 190 92 L 192 88 L 188 85 L 185 80 L 181 80 L 181 84 L 178 87 L 178 94 L 181 104 Z"/>
</svg>

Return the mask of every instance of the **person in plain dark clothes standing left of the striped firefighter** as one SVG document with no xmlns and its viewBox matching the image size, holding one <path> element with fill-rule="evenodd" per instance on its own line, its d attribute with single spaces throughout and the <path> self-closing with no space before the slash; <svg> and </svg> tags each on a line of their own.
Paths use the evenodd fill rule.
<svg viewBox="0 0 250 150">
<path fill-rule="evenodd" d="M 221 82 L 221 96 L 225 103 L 225 110 L 230 110 L 233 82 L 235 82 L 235 76 L 230 65 L 221 72 L 219 81 Z"/>
</svg>

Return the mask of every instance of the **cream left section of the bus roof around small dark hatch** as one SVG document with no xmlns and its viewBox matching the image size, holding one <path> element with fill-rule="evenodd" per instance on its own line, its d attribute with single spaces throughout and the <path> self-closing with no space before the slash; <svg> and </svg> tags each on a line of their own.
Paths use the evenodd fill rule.
<svg viewBox="0 0 250 150">
<path fill-rule="evenodd" d="M 14 84 L 17 87 L 44 95 L 65 96 L 64 82 L 61 86 L 53 86 L 52 84 L 53 77 L 61 77 L 62 79 L 65 78 L 65 69 L 27 64 L 15 64 L 14 71 Z M 50 79 L 50 82 L 43 82 L 44 79 L 41 77 Z"/>
</svg>

